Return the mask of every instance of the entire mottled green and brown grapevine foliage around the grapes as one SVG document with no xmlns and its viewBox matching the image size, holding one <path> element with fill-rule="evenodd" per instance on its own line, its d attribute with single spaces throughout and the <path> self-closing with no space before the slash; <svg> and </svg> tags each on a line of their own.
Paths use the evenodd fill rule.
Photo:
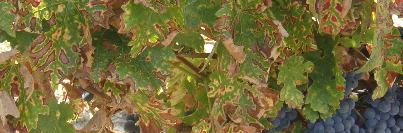
<svg viewBox="0 0 403 133">
<path fill-rule="evenodd" d="M 377 83 L 373 99 L 403 74 L 403 41 L 391 19 L 403 16 L 402 6 L 0 0 L 0 42 L 14 48 L 0 53 L 0 133 L 109 133 L 121 110 L 140 114 L 142 133 L 262 132 L 283 104 L 307 121 L 326 119 L 340 108 L 343 72 L 366 72 Z M 359 52 L 364 45 L 370 57 Z M 58 86 L 63 101 L 55 100 Z M 95 98 L 84 102 L 76 86 Z M 84 108 L 98 111 L 75 129 L 70 121 Z M 194 113 L 184 117 L 187 110 Z M 295 123 L 287 132 L 302 132 Z"/>
</svg>

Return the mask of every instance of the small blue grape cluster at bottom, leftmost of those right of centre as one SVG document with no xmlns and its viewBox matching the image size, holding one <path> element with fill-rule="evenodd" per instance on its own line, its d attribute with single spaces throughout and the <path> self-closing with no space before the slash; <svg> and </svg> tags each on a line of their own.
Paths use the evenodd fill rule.
<svg viewBox="0 0 403 133">
<path fill-rule="evenodd" d="M 281 110 L 278 112 L 278 115 L 276 118 L 268 118 L 267 120 L 276 128 L 272 128 L 270 130 L 263 130 L 263 133 L 275 133 L 276 131 L 283 131 L 284 129 L 287 129 L 291 121 L 293 121 L 295 118 L 297 118 L 297 110 L 290 108 L 287 106 L 287 104 L 283 104 L 283 107 Z"/>
</svg>

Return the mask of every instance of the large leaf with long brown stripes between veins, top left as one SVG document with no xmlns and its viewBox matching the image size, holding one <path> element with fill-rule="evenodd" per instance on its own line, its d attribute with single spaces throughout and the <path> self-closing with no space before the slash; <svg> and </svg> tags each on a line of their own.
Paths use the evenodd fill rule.
<svg viewBox="0 0 403 133">
<path fill-rule="evenodd" d="M 50 24 L 50 31 L 40 34 L 24 52 L 24 56 L 34 57 L 31 65 L 34 71 L 48 72 L 53 84 L 60 84 L 77 69 L 80 62 L 80 47 L 86 44 L 89 32 L 81 10 L 86 6 L 81 2 L 56 0 L 41 3 L 22 3 L 27 12 L 19 12 L 21 19 L 17 27 L 31 32 L 42 30 L 42 19 Z M 27 14 L 26 14 L 27 13 Z M 66 17 L 68 16 L 68 17 Z M 15 27 L 15 30 L 16 29 Z"/>
</svg>

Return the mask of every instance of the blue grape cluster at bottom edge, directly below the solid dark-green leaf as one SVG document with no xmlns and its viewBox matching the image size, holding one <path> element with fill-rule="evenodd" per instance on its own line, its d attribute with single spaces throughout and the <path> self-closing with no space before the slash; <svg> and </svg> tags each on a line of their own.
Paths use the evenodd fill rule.
<svg viewBox="0 0 403 133">
<path fill-rule="evenodd" d="M 340 101 L 340 109 L 331 118 L 323 121 L 317 120 L 315 123 L 308 122 L 308 128 L 304 133 L 359 133 L 358 125 L 355 125 L 354 117 L 351 117 L 355 101 L 346 98 Z"/>
</svg>

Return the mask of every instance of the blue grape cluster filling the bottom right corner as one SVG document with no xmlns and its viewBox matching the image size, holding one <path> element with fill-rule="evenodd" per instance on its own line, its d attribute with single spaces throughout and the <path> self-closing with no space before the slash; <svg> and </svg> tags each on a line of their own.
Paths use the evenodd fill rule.
<svg viewBox="0 0 403 133">
<path fill-rule="evenodd" d="M 403 91 L 398 90 L 397 85 L 393 84 L 383 98 L 372 100 L 372 93 L 366 96 L 366 102 L 372 105 L 372 108 L 366 108 L 361 113 L 363 119 L 358 119 L 357 123 L 365 128 L 366 133 L 403 133 Z"/>
</svg>

